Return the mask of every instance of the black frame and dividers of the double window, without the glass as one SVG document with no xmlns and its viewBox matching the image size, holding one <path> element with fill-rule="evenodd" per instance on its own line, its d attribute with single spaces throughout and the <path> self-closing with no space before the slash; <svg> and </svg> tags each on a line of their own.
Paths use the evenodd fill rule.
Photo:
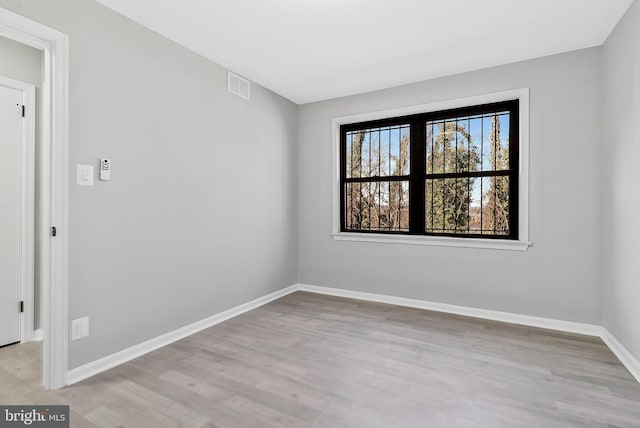
<svg viewBox="0 0 640 428">
<path fill-rule="evenodd" d="M 469 107 L 452 108 L 434 112 L 391 117 L 365 122 L 343 124 L 340 126 L 340 231 L 345 233 L 440 236 L 453 238 L 518 240 L 519 238 L 519 165 L 520 165 L 520 111 L 519 100 L 508 100 Z M 426 124 L 432 121 L 451 119 L 461 116 L 476 116 L 491 113 L 509 112 L 509 169 L 499 171 L 471 171 L 455 173 L 427 174 Z M 409 124 L 409 174 L 404 176 L 373 176 L 347 178 L 347 144 L 348 132 L 399 126 Z M 509 177 L 509 233 L 477 234 L 477 233 L 443 233 L 426 230 L 426 181 L 436 178 L 467 177 Z M 346 188 L 347 183 L 354 182 L 409 182 L 409 230 L 367 230 L 346 228 Z"/>
</svg>

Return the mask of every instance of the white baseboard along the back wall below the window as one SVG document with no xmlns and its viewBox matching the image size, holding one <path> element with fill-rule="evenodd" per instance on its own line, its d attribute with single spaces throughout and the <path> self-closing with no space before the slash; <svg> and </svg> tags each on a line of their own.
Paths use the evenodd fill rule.
<svg viewBox="0 0 640 428">
<path fill-rule="evenodd" d="M 369 302 L 387 303 L 390 305 L 406 306 L 409 308 L 427 309 L 448 314 L 464 315 L 467 317 L 483 318 L 493 321 L 508 322 L 511 324 L 540 327 L 549 330 L 564 331 L 567 333 L 585 334 L 588 336 L 600 336 L 601 327 L 595 324 L 583 324 L 571 321 L 555 320 L 550 318 L 520 315 L 510 312 L 499 312 L 488 309 L 471 308 L 467 306 L 449 305 L 447 303 L 429 302 L 426 300 L 407 299 L 404 297 L 387 296 L 384 294 L 364 293 L 361 291 L 343 290 L 339 288 L 318 287 L 316 285 L 298 284 L 301 291 L 327 294 L 330 296 L 347 297 L 350 299 L 366 300 Z"/>
</svg>

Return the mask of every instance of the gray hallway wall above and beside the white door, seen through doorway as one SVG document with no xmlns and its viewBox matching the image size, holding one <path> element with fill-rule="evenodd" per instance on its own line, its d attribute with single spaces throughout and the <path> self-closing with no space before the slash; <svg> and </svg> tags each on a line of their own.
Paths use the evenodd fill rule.
<svg viewBox="0 0 640 428">
<path fill-rule="evenodd" d="M 31 83 L 36 87 L 36 145 L 40 141 L 40 104 L 42 89 L 42 52 L 30 46 L 17 43 L 13 40 L 0 37 L 0 75 L 21 82 Z M 38 150 L 36 149 L 36 165 L 39 162 Z M 37 175 L 36 169 L 36 175 Z M 38 177 L 36 176 L 36 204 L 38 200 Z M 36 206 L 36 213 L 38 207 Z M 40 230 L 38 228 L 40 222 L 36 218 L 35 223 L 35 241 L 38 241 Z M 39 254 L 36 247 L 35 265 L 38 266 Z M 40 328 L 40 276 L 38 269 L 34 270 L 34 328 Z"/>
</svg>

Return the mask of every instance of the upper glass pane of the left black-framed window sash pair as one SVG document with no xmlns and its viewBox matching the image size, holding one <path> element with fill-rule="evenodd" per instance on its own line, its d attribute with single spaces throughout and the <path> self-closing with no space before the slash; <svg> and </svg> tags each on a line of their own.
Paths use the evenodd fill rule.
<svg viewBox="0 0 640 428">
<path fill-rule="evenodd" d="M 409 125 L 346 133 L 347 178 L 409 174 Z"/>
</svg>

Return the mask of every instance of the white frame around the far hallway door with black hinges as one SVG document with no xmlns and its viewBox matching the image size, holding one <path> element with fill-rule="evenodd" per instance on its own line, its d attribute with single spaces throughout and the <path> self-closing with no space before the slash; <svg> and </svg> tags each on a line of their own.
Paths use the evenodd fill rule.
<svg viewBox="0 0 640 428">
<path fill-rule="evenodd" d="M 34 338 L 36 87 L 5 76 L 0 76 L 0 86 L 20 91 L 25 109 L 20 138 L 20 298 L 24 306 L 19 315 L 20 343 L 25 343 Z"/>
</svg>

